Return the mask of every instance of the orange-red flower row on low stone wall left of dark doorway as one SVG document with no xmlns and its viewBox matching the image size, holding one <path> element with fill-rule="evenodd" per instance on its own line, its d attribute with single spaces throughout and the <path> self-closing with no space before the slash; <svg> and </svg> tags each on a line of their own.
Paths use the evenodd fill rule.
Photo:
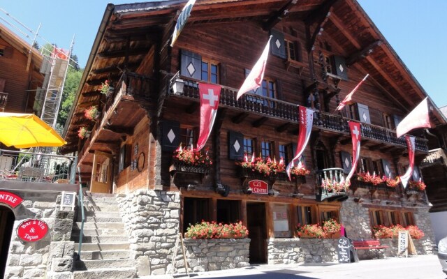
<svg viewBox="0 0 447 279">
<path fill-rule="evenodd" d="M 242 221 L 230 224 L 205 222 L 189 225 L 185 237 L 189 239 L 244 239 L 249 235 Z"/>
</svg>

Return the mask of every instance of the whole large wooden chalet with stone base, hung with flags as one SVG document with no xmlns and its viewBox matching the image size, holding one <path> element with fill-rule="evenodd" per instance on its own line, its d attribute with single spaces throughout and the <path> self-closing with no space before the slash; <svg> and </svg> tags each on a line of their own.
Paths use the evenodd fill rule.
<svg viewBox="0 0 447 279">
<path fill-rule="evenodd" d="M 138 274 L 168 273 L 177 234 L 200 220 L 242 220 L 249 229 L 249 252 L 239 259 L 242 264 L 219 266 L 211 264 L 212 257 L 199 261 L 189 250 L 195 271 L 248 262 L 332 262 L 337 260 L 333 250 L 295 237 L 298 224 L 328 218 L 339 220 L 351 239 L 372 239 L 374 225 L 418 225 L 425 236 L 414 240 L 416 249 L 431 253 L 434 237 L 424 191 L 353 179 L 347 193 L 329 197 L 320 187 L 321 176 L 349 172 L 350 119 L 362 127 L 359 172 L 404 174 L 406 142 L 396 137 L 395 126 L 427 96 L 360 5 L 355 0 L 198 0 L 170 47 L 185 3 L 107 6 L 64 131 L 68 144 L 61 151 L 78 154 L 81 181 L 89 192 L 117 195 L 131 243 L 126 247 Z M 262 86 L 236 100 L 269 36 Z M 354 103 L 335 112 L 367 73 Z M 105 81 L 110 89 L 101 85 Z M 205 146 L 213 163 L 209 169 L 186 171 L 175 165 L 173 153 L 180 144 L 197 141 L 200 81 L 222 86 Z M 268 195 L 249 193 L 247 182 L 256 178 L 240 172 L 237 161 L 244 160 L 244 153 L 291 160 L 297 105 L 316 110 L 304 153 L 310 174 L 293 181 L 283 174 L 261 178 Z M 85 118 L 91 106 L 100 114 L 94 120 Z M 431 107 L 434 126 L 445 125 L 445 117 Z M 82 139 L 80 128 L 89 130 Z M 422 130 L 414 135 L 418 165 L 429 149 L 440 146 L 432 146 L 436 141 Z M 415 173 L 418 180 L 420 172 Z M 430 168 L 423 176 L 430 176 Z M 425 181 L 427 188 L 437 187 Z M 186 240 L 186 246 L 192 242 Z M 335 240 L 320 243 L 335 245 Z M 388 244 L 392 248 L 382 253 L 395 255 L 397 242 Z M 369 252 L 361 256 L 375 255 Z M 230 256 L 220 262 L 233 260 Z"/>
</svg>

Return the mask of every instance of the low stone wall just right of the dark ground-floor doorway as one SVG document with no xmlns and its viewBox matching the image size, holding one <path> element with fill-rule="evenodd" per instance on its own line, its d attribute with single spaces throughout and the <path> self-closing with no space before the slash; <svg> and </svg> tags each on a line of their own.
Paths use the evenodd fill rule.
<svg viewBox="0 0 447 279">
<path fill-rule="evenodd" d="M 268 239 L 268 264 L 336 262 L 337 239 Z"/>
</svg>

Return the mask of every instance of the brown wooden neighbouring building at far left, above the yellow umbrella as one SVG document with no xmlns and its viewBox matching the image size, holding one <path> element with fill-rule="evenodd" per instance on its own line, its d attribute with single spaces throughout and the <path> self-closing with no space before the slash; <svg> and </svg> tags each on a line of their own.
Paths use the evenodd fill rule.
<svg viewBox="0 0 447 279">
<path fill-rule="evenodd" d="M 33 112 L 34 96 L 42 86 L 42 56 L 0 24 L 0 111 Z"/>
</svg>

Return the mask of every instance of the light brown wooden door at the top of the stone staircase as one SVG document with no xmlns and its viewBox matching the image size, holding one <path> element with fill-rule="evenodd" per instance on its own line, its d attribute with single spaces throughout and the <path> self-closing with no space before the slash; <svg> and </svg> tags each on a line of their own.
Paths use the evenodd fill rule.
<svg viewBox="0 0 447 279">
<path fill-rule="evenodd" d="M 95 151 L 90 192 L 111 193 L 112 171 L 112 154 Z"/>
</svg>

